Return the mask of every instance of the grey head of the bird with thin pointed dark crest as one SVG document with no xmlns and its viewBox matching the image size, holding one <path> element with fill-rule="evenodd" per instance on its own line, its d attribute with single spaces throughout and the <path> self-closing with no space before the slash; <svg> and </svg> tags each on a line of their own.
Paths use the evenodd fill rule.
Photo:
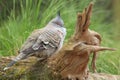
<svg viewBox="0 0 120 80">
<path fill-rule="evenodd" d="M 64 27 L 64 22 L 63 22 L 63 20 L 61 19 L 61 16 L 60 16 L 60 11 L 57 13 L 57 16 L 50 21 L 50 23 L 53 23 L 53 24 L 59 25 L 61 27 Z"/>
</svg>

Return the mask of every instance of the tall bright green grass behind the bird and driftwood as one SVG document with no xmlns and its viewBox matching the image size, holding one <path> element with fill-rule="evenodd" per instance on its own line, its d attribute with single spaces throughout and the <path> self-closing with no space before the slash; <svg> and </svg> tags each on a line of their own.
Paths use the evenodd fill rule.
<svg viewBox="0 0 120 80">
<path fill-rule="evenodd" d="M 67 28 L 66 40 L 73 34 L 76 25 L 76 14 L 88 6 L 91 0 L 13 0 L 13 8 L 7 19 L 0 26 L 0 56 L 17 54 L 28 35 L 38 28 L 44 27 L 49 20 L 61 11 Z M 19 2 L 19 9 L 15 3 Z M 105 2 L 104 2 L 105 3 Z M 18 10 L 17 10 L 18 9 Z M 119 43 L 114 38 L 113 23 L 103 20 L 109 11 L 104 6 L 94 6 L 90 29 L 102 35 L 102 45 L 118 48 L 115 52 L 101 52 L 97 60 L 99 72 L 120 74 Z"/>
</svg>

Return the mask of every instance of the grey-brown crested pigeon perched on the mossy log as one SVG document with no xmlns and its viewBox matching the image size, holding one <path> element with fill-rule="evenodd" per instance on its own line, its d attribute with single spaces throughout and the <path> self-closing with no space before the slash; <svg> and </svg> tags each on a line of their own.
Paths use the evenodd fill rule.
<svg viewBox="0 0 120 80">
<path fill-rule="evenodd" d="M 53 54 L 57 54 L 63 46 L 65 36 L 66 28 L 59 11 L 56 17 L 50 20 L 45 27 L 31 33 L 19 50 L 19 54 L 12 59 L 4 70 L 29 56 L 47 59 Z"/>
</svg>

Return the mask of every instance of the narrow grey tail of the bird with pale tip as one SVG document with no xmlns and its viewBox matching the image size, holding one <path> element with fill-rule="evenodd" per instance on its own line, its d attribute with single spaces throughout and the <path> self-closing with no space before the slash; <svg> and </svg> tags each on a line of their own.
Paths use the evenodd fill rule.
<svg viewBox="0 0 120 80">
<path fill-rule="evenodd" d="M 26 54 L 20 53 L 17 57 L 15 57 L 5 68 L 4 70 L 9 69 L 12 67 L 16 62 L 20 61 L 21 59 L 25 59 L 27 57 Z"/>
</svg>

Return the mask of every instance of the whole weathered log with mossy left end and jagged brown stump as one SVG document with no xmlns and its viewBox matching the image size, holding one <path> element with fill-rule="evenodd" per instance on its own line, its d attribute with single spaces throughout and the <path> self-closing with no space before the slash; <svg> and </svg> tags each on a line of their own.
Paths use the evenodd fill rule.
<svg viewBox="0 0 120 80">
<path fill-rule="evenodd" d="M 37 61 L 31 57 L 23 60 L 7 71 L 3 68 L 12 57 L 0 58 L 0 80 L 120 80 L 120 76 L 104 73 L 90 73 L 88 62 L 94 53 L 92 65 L 98 51 L 114 50 L 101 47 L 100 34 L 88 29 L 93 3 L 77 15 L 75 33 L 58 54 L 48 60 Z"/>
</svg>

